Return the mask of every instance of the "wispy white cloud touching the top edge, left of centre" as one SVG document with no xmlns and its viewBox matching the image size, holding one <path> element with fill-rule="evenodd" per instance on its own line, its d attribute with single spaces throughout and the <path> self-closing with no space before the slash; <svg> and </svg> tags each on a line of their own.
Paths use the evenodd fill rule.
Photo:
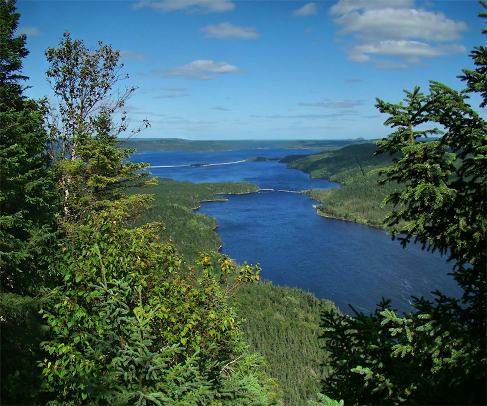
<svg viewBox="0 0 487 406">
<path fill-rule="evenodd" d="M 150 7 L 161 13 L 180 10 L 188 13 L 224 13 L 225 11 L 233 10 L 235 4 L 230 0 L 141 0 L 133 5 L 135 10 L 143 7 Z"/>
</svg>

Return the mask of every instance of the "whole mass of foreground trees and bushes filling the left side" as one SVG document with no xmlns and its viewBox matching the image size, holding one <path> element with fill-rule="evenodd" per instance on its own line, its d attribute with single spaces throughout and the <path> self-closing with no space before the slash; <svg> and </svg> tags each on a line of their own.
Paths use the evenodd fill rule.
<svg viewBox="0 0 487 406">
<path fill-rule="evenodd" d="M 2 38 L 8 38 L 19 16 L 12 2 L 0 6 Z M 24 42 L 25 37 L 6 41 L 17 47 L 11 54 L 2 42 L 1 55 L 10 58 L 2 65 L 5 88 L 22 78 L 5 70 L 20 67 L 12 55 L 26 55 Z M 65 33 L 46 55 L 58 100 L 43 104 L 49 133 L 35 104 L 20 93 L 1 100 L 1 153 L 8 161 L 1 198 L 12 209 L 1 218 L 2 282 L 4 276 L 7 281 L 0 301 L 2 402 L 272 404 L 275 384 L 262 370 L 262 358 L 246 351 L 228 305 L 241 284 L 259 279 L 259 268 L 237 268 L 222 256 L 213 265 L 202 254 L 199 272 L 180 272 L 173 244 L 158 242 L 163 225 L 133 224 L 151 197 L 124 193 L 129 185 L 153 181 L 144 179 L 143 164 L 126 161 L 131 150 L 117 148 L 127 124 L 122 117 L 113 125 L 112 116 L 133 91 L 118 97 L 111 92 L 121 68 L 118 52 L 101 43 L 87 50 Z M 14 177 L 19 165 L 27 172 Z M 56 177 L 60 214 L 55 215 L 61 208 L 56 204 L 41 212 L 51 207 L 44 195 L 58 200 L 48 193 L 56 182 L 38 189 L 41 175 Z M 57 227 L 48 251 L 40 224 Z M 19 244 L 8 247 L 7 241 Z M 31 250 L 25 255 L 24 241 Z M 17 249 L 17 262 L 9 263 L 11 252 L 4 247 Z M 11 263 L 19 272 L 7 268 Z M 23 295 L 31 292 L 36 297 Z"/>
</svg>

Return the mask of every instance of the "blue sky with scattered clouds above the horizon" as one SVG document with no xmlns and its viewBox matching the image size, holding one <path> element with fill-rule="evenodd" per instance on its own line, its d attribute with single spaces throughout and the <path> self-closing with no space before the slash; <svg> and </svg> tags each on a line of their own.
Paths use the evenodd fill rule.
<svg viewBox="0 0 487 406">
<path fill-rule="evenodd" d="M 51 96 L 44 51 L 65 30 L 121 52 L 139 137 L 378 138 L 375 97 L 454 89 L 485 44 L 477 1 L 22 1 L 28 95 Z M 480 103 L 472 98 L 472 106 Z M 485 113 L 485 111 L 482 111 Z"/>
</svg>

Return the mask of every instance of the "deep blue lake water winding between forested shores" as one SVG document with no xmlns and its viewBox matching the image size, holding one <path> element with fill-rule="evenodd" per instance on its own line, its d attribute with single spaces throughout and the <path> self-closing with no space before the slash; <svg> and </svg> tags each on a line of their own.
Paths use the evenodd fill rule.
<svg viewBox="0 0 487 406">
<path fill-rule="evenodd" d="M 156 152 L 132 156 L 150 165 L 233 162 L 251 156 L 285 156 L 313 151 L 272 148 L 224 152 Z M 297 286 L 333 300 L 342 311 L 372 312 L 381 296 L 393 307 L 410 310 L 411 295 L 432 298 L 431 291 L 459 296 L 447 273 L 451 265 L 438 254 L 410 244 L 403 249 L 384 230 L 318 216 L 318 202 L 298 193 L 278 192 L 337 187 L 311 179 L 277 161 L 210 167 L 153 168 L 153 175 L 190 182 L 248 181 L 261 188 L 248 195 L 225 196 L 228 202 L 202 203 L 201 213 L 215 217 L 222 252 L 239 262 L 259 262 L 262 277 L 278 285 Z"/>
</svg>

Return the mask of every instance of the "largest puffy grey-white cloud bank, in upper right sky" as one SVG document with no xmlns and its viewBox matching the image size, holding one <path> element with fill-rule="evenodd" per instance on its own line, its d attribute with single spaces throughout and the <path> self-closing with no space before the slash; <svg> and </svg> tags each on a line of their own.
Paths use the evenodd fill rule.
<svg viewBox="0 0 487 406">
<path fill-rule="evenodd" d="M 467 52 L 464 45 L 451 42 L 468 30 L 465 22 L 416 9 L 409 0 L 340 0 L 330 14 L 337 16 L 335 22 L 341 26 L 338 35 L 352 35 L 356 42 L 346 50 L 353 62 L 407 69 L 422 65 L 423 58 Z"/>
</svg>

